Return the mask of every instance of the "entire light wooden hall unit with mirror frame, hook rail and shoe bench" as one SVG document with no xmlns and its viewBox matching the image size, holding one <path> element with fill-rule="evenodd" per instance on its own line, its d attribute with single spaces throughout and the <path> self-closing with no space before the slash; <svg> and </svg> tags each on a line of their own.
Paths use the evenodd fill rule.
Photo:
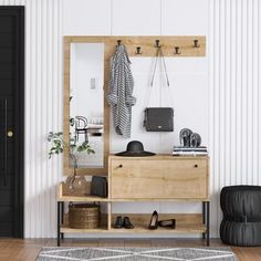
<svg viewBox="0 0 261 261">
<path fill-rule="evenodd" d="M 64 36 L 64 139 L 70 134 L 70 72 L 71 45 L 74 43 L 104 44 L 104 93 L 109 81 L 109 59 L 115 46 L 123 43 L 129 56 L 155 56 L 161 46 L 166 58 L 205 56 L 206 36 Z M 64 233 L 201 233 L 209 244 L 209 171 L 208 157 L 116 157 L 109 154 L 109 108 L 104 95 L 104 166 L 103 168 L 79 168 L 77 175 L 104 176 L 108 173 L 108 197 L 65 196 L 64 184 L 58 192 L 58 246 Z M 69 150 L 64 149 L 64 174 L 72 173 Z M 88 195 L 88 194 L 87 194 Z M 149 230 L 152 213 L 128 213 L 135 228 L 114 229 L 113 223 L 119 213 L 113 213 L 115 202 L 178 201 L 201 202 L 201 213 L 159 213 L 160 219 L 175 218 L 176 229 L 158 228 Z M 64 213 L 64 202 L 100 202 L 106 205 L 98 229 L 72 229 Z M 124 213 L 122 213 L 124 215 Z"/>
</svg>

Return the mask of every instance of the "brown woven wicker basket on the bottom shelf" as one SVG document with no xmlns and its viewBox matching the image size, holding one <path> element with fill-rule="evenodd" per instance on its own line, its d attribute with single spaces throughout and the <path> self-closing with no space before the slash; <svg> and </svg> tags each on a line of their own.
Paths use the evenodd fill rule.
<svg viewBox="0 0 261 261">
<path fill-rule="evenodd" d="M 70 205 L 69 227 L 73 229 L 100 228 L 100 206 L 95 203 Z"/>
</svg>

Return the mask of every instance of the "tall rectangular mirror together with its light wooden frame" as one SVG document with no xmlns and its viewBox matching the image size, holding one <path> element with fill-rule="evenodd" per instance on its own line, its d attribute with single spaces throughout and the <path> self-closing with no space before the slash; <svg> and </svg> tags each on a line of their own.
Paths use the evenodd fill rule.
<svg viewBox="0 0 261 261">
<path fill-rule="evenodd" d="M 73 140 L 76 146 L 87 142 L 94 150 L 94 154 L 86 150 L 74 153 L 77 175 L 107 175 L 107 61 L 103 41 L 64 38 L 64 139 L 71 144 Z M 65 148 L 65 175 L 73 173 L 74 164 L 69 148 Z"/>
</svg>

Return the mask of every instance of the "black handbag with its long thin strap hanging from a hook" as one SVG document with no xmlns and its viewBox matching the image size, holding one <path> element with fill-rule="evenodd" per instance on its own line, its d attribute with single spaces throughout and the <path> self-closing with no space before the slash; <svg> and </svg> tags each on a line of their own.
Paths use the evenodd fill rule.
<svg viewBox="0 0 261 261">
<path fill-rule="evenodd" d="M 161 56 L 164 62 L 165 75 L 169 87 L 167 69 L 164 60 L 163 50 L 157 49 L 156 62 L 154 66 L 150 86 L 153 87 L 154 76 L 157 67 L 157 61 Z M 148 97 L 149 101 L 149 97 Z M 144 117 L 144 127 L 147 132 L 174 132 L 174 108 L 173 107 L 146 107 Z"/>
</svg>

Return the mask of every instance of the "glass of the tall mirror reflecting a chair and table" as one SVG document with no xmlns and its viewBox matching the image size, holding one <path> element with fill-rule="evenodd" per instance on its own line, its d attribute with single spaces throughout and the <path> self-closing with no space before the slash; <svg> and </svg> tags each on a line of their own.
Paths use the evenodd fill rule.
<svg viewBox="0 0 261 261">
<path fill-rule="evenodd" d="M 104 44 L 71 43 L 70 127 L 76 144 L 88 142 L 95 154 L 79 153 L 79 168 L 104 166 Z M 72 165 L 72 163 L 71 163 Z"/>
</svg>

